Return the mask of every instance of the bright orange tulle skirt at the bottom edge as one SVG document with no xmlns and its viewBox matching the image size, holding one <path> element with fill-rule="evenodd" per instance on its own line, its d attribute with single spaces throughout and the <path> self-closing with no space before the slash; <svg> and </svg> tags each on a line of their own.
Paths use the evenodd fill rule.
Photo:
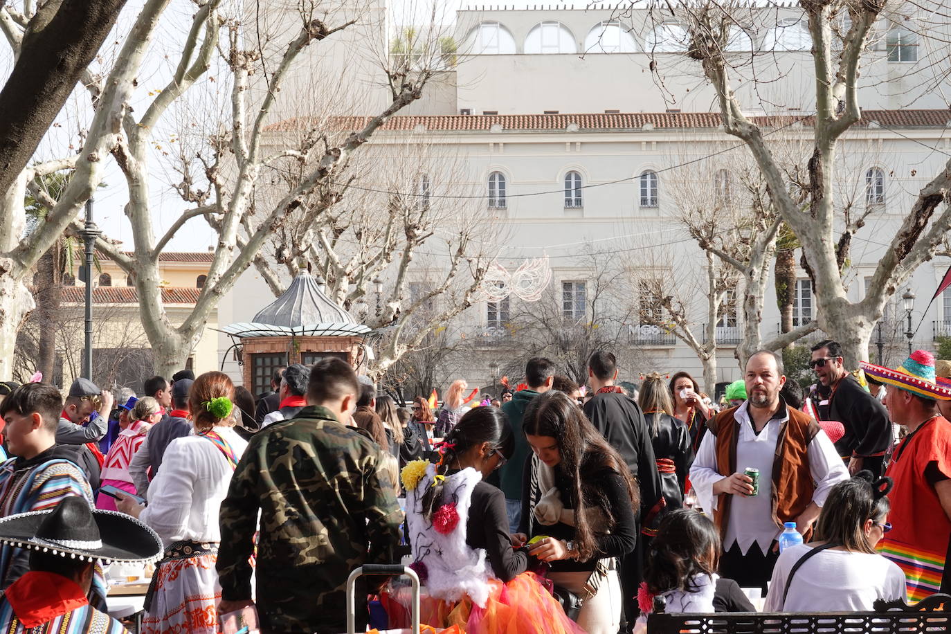
<svg viewBox="0 0 951 634">
<path fill-rule="evenodd" d="M 465 634 L 585 634 L 534 572 L 523 572 L 508 584 L 497 579 L 489 584 L 485 607 L 473 605 L 468 597 L 457 602 L 426 599 L 419 605 L 420 623 L 456 625 Z"/>
</svg>

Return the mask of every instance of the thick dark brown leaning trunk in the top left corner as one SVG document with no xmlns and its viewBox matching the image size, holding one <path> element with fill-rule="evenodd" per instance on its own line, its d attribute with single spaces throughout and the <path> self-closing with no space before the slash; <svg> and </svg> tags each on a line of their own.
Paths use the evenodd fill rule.
<svg viewBox="0 0 951 634">
<path fill-rule="evenodd" d="M 0 90 L 0 191 L 6 191 L 102 47 L 126 0 L 48 0 L 29 21 Z"/>
</svg>

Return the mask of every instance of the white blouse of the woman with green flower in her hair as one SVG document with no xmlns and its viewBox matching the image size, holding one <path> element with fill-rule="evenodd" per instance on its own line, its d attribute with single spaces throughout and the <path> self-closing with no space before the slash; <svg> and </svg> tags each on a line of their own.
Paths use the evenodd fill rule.
<svg viewBox="0 0 951 634">
<path fill-rule="evenodd" d="M 216 427 L 240 459 L 247 441 L 230 427 Z M 221 450 L 197 435 L 176 438 L 165 449 L 162 469 L 148 487 L 139 519 L 154 528 L 167 548 L 182 540 L 220 542 L 218 512 L 234 470 Z"/>
</svg>

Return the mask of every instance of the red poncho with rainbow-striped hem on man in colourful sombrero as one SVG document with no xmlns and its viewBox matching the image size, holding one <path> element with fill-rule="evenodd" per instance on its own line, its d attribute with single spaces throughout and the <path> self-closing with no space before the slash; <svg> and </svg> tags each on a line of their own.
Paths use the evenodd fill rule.
<svg viewBox="0 0 951 634">
<path fill-rule="evenodd" d="M 904 571 L 908 599 L 916 602 L 936 592 L 948 591 L 942 580 L 951 547 L 951 520 L 925 468 L 951 476 L 951 423 L 936 416 L 902 440 L 885 475 L 895 480 L 888 494 L 894 527 L 885 533 L 879 550 Z"/>
</svg>

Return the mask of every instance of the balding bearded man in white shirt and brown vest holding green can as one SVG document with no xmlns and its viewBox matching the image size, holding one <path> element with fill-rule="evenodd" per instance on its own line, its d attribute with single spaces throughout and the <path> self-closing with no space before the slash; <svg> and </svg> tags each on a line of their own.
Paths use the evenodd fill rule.
<svg viewBox="0 0 951 634">
<path fill-rule="evenodd" d="M 708 422 L 690 482 L 723 537 L 721 575 L 765 590 L 783 523 L 795 522 L 807 540 L 825 496 L 848 471 L 818 423 L 780 398 L 786 376 L 779 356 L 750 356 L 744 381 L 743 405 Z M 755 495 L 749 468 L 759 470 Z"/>
</svg>

